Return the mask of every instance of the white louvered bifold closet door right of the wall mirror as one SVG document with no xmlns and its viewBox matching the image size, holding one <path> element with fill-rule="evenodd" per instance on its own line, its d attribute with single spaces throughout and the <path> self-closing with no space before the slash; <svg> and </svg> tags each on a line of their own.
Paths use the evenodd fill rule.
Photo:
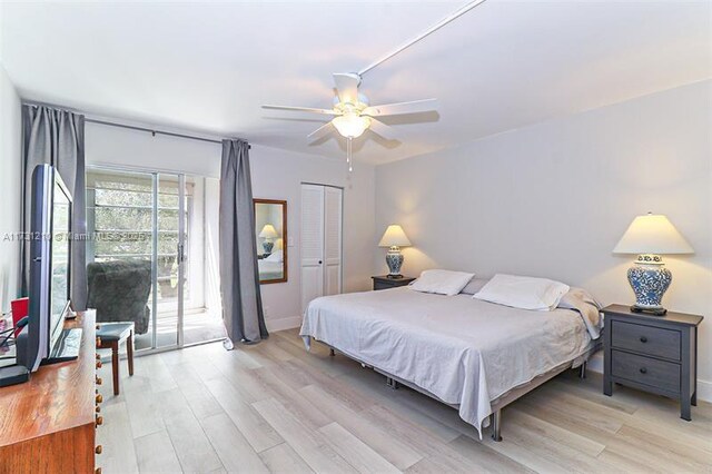
<svg viewBox="0 0 712 474">
<path fill-rule="evenodd" d="M 342 194 L 301 185 L 301 312 L 309 302 L 342 292 Z"/>
</svg>

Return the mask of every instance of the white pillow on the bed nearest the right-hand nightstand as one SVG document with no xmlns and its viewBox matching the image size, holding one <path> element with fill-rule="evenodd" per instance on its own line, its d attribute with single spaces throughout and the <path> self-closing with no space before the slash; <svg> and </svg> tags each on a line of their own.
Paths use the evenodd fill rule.
<svg viewBox="0 0 712 474">
<path fill-rule="evenodd" d="M 495 275 L 473 298 L 522 309 L 552 310 L 568 285 L 546 278 Z"/>
</svg>

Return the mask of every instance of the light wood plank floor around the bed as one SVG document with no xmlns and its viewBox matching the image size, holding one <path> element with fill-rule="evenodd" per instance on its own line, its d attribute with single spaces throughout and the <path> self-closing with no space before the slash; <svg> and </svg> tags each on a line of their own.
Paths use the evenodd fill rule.
<svg viewBox="0 0 712 474">
<path fill-rule="evenodd" d="M 676 403 L 573 372 L 503 412 L 502 443 L 457 412 L 296 330 L 226 352 L 209 344 L 121 364 L 121 395 L 101 368 L 103 473 L 712 472 L 712 405 Z M 488 435 L 488 433 L 485 433 Z"/>
</svg>

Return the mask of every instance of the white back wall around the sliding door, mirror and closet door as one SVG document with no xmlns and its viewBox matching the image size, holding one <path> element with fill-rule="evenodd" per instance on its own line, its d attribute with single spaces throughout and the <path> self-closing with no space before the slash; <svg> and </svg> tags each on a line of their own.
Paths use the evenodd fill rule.
<svg viewBox="0 0 712 474">
<path fill-rule="evenodd" d="M 160 127 L 164 129 L 162 127 Z M 178 131 L 178 130 L 177 130 Z M 87 124 L 87 162 L 155 168 L 219 177 L 221 147 L 218 144 Z M 369 288 L 374 237 L 374 167 L 358 164 L 349 175 L 345 157 L 324 158 L 275 148 L 253 146 L 250 150 L 253 195 L 255 198 L 287 200 L 288 280 L 263 285 L 263 304 L 267 327 L 279 330 L 301 322 L 299 286 L 299 199 L 301 182 L 344 187 L 344 290 Z M 208 199 L 217 190 L 208 182 Z M 217 203 L 217 201 L 216 201 Z M 216 204 L 217 206 L 217 204 Z M 217 211 L 217 208 L 215 209 Z M 216 213 L 217 214 L 217 213 Z M 216 268 L 217 215 L 206 214 L 206 233 L 211 237 L 206 265 Z M 206 276 L 206 297 L 218 294 L 214 275 Z"/>
</svg>

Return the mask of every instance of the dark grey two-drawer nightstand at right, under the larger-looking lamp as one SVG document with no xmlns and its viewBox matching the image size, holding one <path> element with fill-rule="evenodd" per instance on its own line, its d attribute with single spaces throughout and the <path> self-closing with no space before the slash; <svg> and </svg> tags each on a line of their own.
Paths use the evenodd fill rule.
<svg viewBox="0 0 712 474">
<path fill-rule="evenodd" d="M 611 305 L 605 315 L 603 393 L 613 384 L 680 401 L 680 417 L 691 419 L 698 405 L 698 326 L 703 317 L 668 312 L 665 316 L 632 313 Z"/>
</svg>

